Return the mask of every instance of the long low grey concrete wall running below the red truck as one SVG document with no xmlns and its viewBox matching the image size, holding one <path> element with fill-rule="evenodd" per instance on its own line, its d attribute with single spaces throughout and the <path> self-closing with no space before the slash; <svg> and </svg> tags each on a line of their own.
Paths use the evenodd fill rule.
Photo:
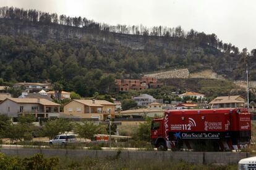
<svg viewBox="0 0 256 170">
<path fill-rule="evenodd" d="M 187 161 L 189 163 L 210 164 L 210 163 L 237 163 L 242 158 L 249 157 L 248 153 L 239 152 L 156 152 L 156 151 L 106 151 L 106 150 L 65 150 L 65 149 L 33 149 L 33 148 L 1 148 L 1 152 L 6 155 L 27 157 L 42 153 L 46 157 L 59 156 L 69 158 L 82 158 L 84 156 L 105 158 L 109 156 L 119 156 L 122 159 L 134 160 L 174 160 Z"/>
</svg>

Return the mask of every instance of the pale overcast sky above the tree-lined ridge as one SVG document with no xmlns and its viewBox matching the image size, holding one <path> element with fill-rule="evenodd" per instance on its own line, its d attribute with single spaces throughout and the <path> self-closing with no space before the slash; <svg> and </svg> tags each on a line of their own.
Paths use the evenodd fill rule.
<svg viewBox="0 0 256 170">
<path fill-rule="evenodd" d="M 215 33 L 223 42 L 256 48 L 254 0 L 0 0 L 0 6 L 81 16 L 111 25 L 181 25 Z"/>
</svg>

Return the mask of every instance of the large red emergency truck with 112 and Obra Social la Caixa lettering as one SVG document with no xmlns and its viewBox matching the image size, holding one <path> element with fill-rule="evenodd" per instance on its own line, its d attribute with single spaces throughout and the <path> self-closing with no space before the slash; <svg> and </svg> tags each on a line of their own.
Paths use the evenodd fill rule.
<svg viewBox="0 0 256 170">
<path fill-rule="evenodd" d="M 238 150 L 250 144 L 250 126 L 246 108 L 168 110 L 153 119 L 151 144 L 158 150 Z"/>
</svg>

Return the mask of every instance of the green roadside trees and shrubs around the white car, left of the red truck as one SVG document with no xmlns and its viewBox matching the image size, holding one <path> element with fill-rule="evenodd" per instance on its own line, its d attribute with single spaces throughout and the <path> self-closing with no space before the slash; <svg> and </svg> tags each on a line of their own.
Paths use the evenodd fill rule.
<svg viewBox="0 0 256 170">
<path fill-rule="evenodd" d="M 35 126 L 33 122 L 35 118 L 32 115 L 20 116 L 17 123 L 12 123 L 6 115 L 0 115 L 0 137 L 2 144 L 20 144 L 29 147 L 29 145 L 46 145 L 47 140 L 53 139 L 58 134 L 71 132 L 77 134 L 77 143 L 67 145 L 66 148 L 82 149 L 101 149 L 101 147 L 109 147 L 108 142 L 90 142 L 95 140 L 95 134 L 109 134 L 108 124 L 96 124 L 90 121 L 74 123 L 67 119 L 49 119 L 43 122 L 42 126 Z M 120 134 L 131 136 L 131 139 L 114 139 L 112 147 L 117 148 L 146 148 L 153 150 L 150 144 L 150 126 L 151 119 L 146 118 L 145 123 L 139 123 L 138 126 L 121 127 Z M 111 125 L 111 134 L 117 131 L 116 124 Z M 43 141 L 35 140 L 43 138 Z M 6 139 L 9 142 L 6 143 Z M 59 146 L 57 146 L 59 148 Z"/>
</svg>

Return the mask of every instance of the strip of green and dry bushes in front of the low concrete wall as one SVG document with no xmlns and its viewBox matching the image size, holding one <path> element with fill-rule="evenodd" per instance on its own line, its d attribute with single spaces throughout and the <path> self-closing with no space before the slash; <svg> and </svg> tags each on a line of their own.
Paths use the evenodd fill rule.
<svg viewBox="0 0 256 170">
<path fill-rule="evenodd" d="M 79 160 L 75 158 L 45 158 L 37 154 L 28 158 L 6 156 L 0 153 L 0 169 L 237 169 L 235 164 L 192 164 L 184 161 L 173 160 L 127 160 L 121 159 L 117 152 L 116 156 L 106 158 L 90 158 L 85 156 Z M 148 163 L 150 161 L 150 163 Z"/>
</svg>

